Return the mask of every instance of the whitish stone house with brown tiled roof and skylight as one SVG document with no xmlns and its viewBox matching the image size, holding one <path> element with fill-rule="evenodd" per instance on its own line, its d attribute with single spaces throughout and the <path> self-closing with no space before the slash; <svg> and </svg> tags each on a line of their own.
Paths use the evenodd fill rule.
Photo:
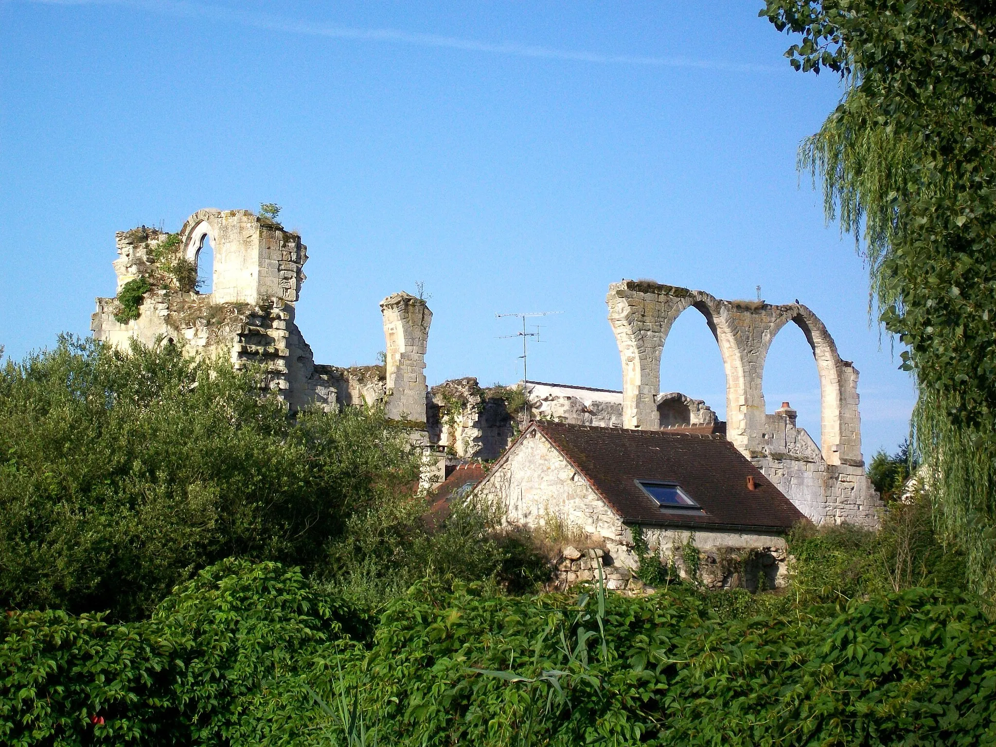
<svg viewBox="0 0 996 747">
<path fill-rule="evenodd" d="M 703 429 L 704 430 L 704 429 Z M 531 423 L 478 483 L 513 526 L 551 521 L 635 569 L 634 530 L 664 563 L 681 565 L 691 542 L 703 562 L 762 558 L 770 586 L 785 579 L 785 535 L 807 521 L 721 434 Z M 713 569 L 709 586 L 737 586 L 735 564 Z"/>
</svg>

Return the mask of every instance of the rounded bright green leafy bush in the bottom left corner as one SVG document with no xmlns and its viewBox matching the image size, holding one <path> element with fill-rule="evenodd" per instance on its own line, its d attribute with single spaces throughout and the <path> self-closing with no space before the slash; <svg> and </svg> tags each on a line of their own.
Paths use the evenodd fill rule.
<svg viewBox="0 0 996 747">
<path fill-rule="evenodd" d="M 352 619 L 299 572 L 244 561 L 201 572 L 145 622 L 11 613 L 0 620 L 0 740 L 291 743 L 310 727 L 307 662 L 348 645 Z"/>
</svg>

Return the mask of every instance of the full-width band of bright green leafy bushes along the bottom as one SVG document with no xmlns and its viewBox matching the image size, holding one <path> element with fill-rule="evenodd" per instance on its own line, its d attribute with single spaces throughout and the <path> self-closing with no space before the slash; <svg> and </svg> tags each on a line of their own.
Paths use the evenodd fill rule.
<svg viewBox="0 0 996 747">
<path fill-rule="evenodd" d="M 0 620 L 0 738 L 318 745 L 362 718 L 368 743 L 419 747 L 996 743 L 996 627 L 956 594 L 839 612 L 426 581 L 368 643 L 355 621 L 299 573 L 246 562 L 202 572 L 145 622 L 15 613 Z"/>
</svg>

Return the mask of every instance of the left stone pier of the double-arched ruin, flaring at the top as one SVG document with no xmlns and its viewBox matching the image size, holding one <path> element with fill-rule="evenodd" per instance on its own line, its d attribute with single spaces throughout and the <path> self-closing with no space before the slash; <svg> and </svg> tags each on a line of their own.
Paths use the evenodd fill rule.
<svg viewBox="0 0 996 747">
<path fill-rule="evenodd" d="M 660 355 L 667 333 L 693 302 L 684 288 L 623 280 L 609 286 L 609 323 L 622 358 L 622 427 L 660 427 Z"/>
</svg>

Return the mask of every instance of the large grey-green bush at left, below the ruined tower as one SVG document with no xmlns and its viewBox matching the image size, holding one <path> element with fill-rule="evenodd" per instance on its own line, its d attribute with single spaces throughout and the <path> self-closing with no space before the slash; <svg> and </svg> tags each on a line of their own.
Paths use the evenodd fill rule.
<svg viewBox="0 0 996 747">
<path fill-rule="evenodd" d="M 0 369 L 0 604 L 128 620 L 229 556 L 313 569 L 416 474 L 375 412 L 292 418 L 227 364 L 63 339 Z"/>
</svg>

